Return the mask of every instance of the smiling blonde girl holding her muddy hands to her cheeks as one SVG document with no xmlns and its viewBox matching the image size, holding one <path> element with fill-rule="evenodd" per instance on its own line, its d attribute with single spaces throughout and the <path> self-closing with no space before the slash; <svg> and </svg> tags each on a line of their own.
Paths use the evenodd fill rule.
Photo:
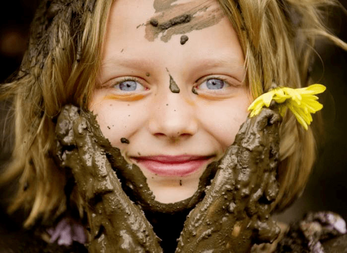
<svg viewBox="0 0 347 253">
<path fill-rule="evenodd" d="M 322 24 L 330 4 L 43 1 L 21 68 L 1 87 L 15 119 L 1 178 L 19 176 L 10 211 L 29 210 L 30 227 L 78 210 L 91 252 L 175 251 L 179 237 L 177 252 L 272 242 L 269 213 L 310 174 L 312 130 L 295 110 L 279 127 L 273 104 L 236 134 L 255 98 L 311 83 L 318 36 L 347 49 Z M 252 136 L 259 142 L 246 145 Z"/>
</svg>

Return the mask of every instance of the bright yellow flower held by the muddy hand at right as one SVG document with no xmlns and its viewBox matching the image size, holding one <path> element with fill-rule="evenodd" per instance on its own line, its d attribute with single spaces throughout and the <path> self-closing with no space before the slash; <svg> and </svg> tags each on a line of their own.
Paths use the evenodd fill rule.
<svg viewBox="0 0 347 253">
<path fill-rule="evenodd" d="M 318 97 L 314 96 L 324 92 L 326 87 L 321 84 L 313 84 L 305 88 L 275 88 L 261 96 L 259 96 L 248 107 L 251 111 L 250 117 L 253 117 L 262 110 L 265 106 L 269 107 L 271 101 L 279 104 L 279 113 L 284 116 L 286 108 L 289 108 L 294 114 L 297 121 L 307 130 L 308 125 L 312 122 L 311 113 L 315 113 L 323 108 L 323 105 L 318 102 Z"/>
</svg>

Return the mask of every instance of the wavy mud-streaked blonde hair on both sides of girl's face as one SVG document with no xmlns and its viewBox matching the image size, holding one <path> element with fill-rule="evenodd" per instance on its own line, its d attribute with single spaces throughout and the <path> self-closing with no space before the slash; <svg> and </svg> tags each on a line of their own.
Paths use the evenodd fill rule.
<svg viewBox="0 0 347 253">
<path fill-rule="evenodd" d="M 347 49 L 322 22 L 321 7 L 336 5 L 335 0 L 219 3 L 239 36 L 254 98 L 274 83 L 295 88 L 309 84 L 318 36 Z M 52 154 L 55 118 L 67 103 L 87 109 L 111 4 L 112 0 L 43 1 L 17 78 L 0 88 L 0 98 L 13 99 L 15 123 L 12 162 L 0 182 L 19 177 L 9 210 L 29 210 L 26 227 L 38 217 L 54 218 L 67 208 L 67 175 Z M 302 192 L 315 158 L 312 130 L 303 130 L 292 114 L 285 115 L 280 135 L 280 191 L 274 209 L 285 207 Z"/>
</svg>

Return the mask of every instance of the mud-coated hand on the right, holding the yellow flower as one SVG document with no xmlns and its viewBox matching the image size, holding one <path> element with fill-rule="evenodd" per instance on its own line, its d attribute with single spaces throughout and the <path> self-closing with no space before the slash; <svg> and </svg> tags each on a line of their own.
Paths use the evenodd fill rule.
<svg viewBox="0 0 347 253">
<path fill-rule="evenodd" d="M 270 109 L 247 118 L 202 202 L 190 212 L 176 253 L 247 253 L 279 233 L 269 219 L 278 193 L 280 116 Z"/>
</svg>

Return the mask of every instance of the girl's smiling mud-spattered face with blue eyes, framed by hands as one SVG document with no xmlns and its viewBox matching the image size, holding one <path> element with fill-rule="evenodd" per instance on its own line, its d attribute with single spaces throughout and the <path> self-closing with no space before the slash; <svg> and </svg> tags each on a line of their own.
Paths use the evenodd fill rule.
<svg viewBox="0 0 347 253">
<path fill-rule="evenodd" d="M 113 3 L 89 109 L 155 200 L 169 203 L 195 193 L 233 143 L 251 96 L 238 37 L 217 1 L 165 2 Z"/>
</svg>

